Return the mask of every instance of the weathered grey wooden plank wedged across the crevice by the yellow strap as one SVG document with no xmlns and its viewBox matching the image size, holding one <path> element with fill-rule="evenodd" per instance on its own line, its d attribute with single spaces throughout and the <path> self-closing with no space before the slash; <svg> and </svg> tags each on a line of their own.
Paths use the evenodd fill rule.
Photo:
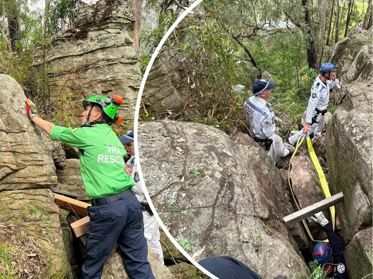
<svg viewBox="0 0 373 279">
<path fill-rule="evenodd" d="M 327 199 L 323 199 L 322 201 L 316 202 L 313 205 L 302 208 L 301 210 L 289 214 L 283 218 L 283 220 L 285 221 L 285 226 L 289 227 L 292 224 L 302 221 L 303 219 L 308 218 L 317 212 L 323 211 L 324 209 L 329 208 L 330 206 L 336 205 L 342 200 L 343 193 L 340 192 Z"/>
</svg>

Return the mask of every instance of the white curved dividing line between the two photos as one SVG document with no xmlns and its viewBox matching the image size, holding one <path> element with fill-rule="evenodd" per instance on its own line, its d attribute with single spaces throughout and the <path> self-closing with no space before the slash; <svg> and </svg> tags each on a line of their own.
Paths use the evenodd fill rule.
<svg viewBox="0 0 373 279">
<path fill-rule="evenodd" d="M 190 13 L 192 11 L 192 9 L 194 9 L 195 6 L 197 6 L 201 2 L 202 2 L 202 0 L 196 0 L 195 2 L 193 2 L 191 4 L 191 6 L 189 6 L 178 17 L 178 19 L 176 19 L 176 21 L 173 23 L 173 25 L 171 26 L 171 28 L 166 32 L 166 35 L 164 35 L 164 37 L 160 41 L 159 45 L 157 46 L 156 50 L 154 51 L 154 54 L 151 56 L 150 62 L 148 64 L 148 67 L 145 70 L 144 77 L 142 78 L 142 81 L 141 81 L 140 91 L 139 91 L 139 94 L 137 96 L 137 103 L 136 103 L 136 109 L 135 109 L 134 136 L 135 136 L 135 154 L 136 154 L 136 159 L 135 160 L 136 160 L 137 170 L 138 170 L 138 173 L 139 173 L 139 176 L 140 176 L 140 181 L 141 181 L 142 185 L 145 185 L 145 181 L 144 181 L 144 177 L 142 176 L 141 165 L 140 165 L 140 158 L 139 158 L 139 155 L 138 155 L 139 154 L 139 150 L 138 150 L 138 145 L 137 145 L 137 127 L 138 127 L 138 115 L 139 115 L 140 105 L 141 105 L 141 96 L 142 96 L 142 92 L 144 91 L 145 82 L 146 82 L 146 80 L 148 78 L 148 74 L 150 72 L 150 68 L 153 65 L 153 62 L 154 62 L 154 60 L 156 59 L 156 57 L 158 55 L 158 52 L 162 48 L 162 46 L 163 46 L 164 42 L 166 41 L 166 39 L 168 38 L 168 36 L 172 33 L 173 29 L 175 29 L 175 27 L 179 24 L 179 22 L 181 22 L 181 20 L 186 15 L 188 15 L 188 13 Z M 154 216 L 156 217 L 157 221 L 159 222 L 162 230 L 166 233 L 167 237 L 172 241 L 173 245 L 175 245 L 176 248 L 179 249 L 179 251 L 186 257 L 186 259 L 188 259 L 192 264 L 194 264 L 202 272 L 206 273 L 206 275 L 210 276 L 213 279 L 219 279 L 215 275 L 211 274 L 209 271 L 207 271 L 206 269 L 204 269 L 191 256 L 189 256 L 189 254 L 186 253 L 186 251 L 184 251 L 184 249 L 181 248 L 181 246 L 179 245 L 179 243 L 175 240 L 175 238 L 172 237 L 172 235 L 170 234 L 170 232 L 167 230 L 166 226 L 163 224 L 162 220 L 159 218 L 159 215 L 158 215 L 156 209 L 154 208 L 153 203 L 151 202 L 151 199 L 150 199 L 150 196 L 149 196 L 149 193 L 148 193 L 148 190 L 146 189 L 146 187 L 144 187 L 143 190 L 144 190 L 144 193 L 145 193 L 145 197 L 146 197 L 147 201 L 149 202 L 149 205 L 150 205 L 150 207 L 151 207 L 151 209 L 152 209 L 152 211 L 154 213 Z"/>
</svg>

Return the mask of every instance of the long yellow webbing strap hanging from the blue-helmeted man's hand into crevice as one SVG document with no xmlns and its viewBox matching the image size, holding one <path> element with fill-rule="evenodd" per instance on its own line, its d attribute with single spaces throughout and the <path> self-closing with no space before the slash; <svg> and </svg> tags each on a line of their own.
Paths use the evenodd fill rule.
<svg viewBox="0 0 373 279">
<path fill-rule="evenodd" d="M 295 204 L 297 205 L 298 210 L 300 210 L 301 208 L 299 206 L 297 198 L 295 198 L 294 191 L 293 191 L 293 188 L 292 188 L 291 183 L 290 183 L 290 169 L 291 169 L 291 160 L 294 157 L 294 155 L 297 153 L 298 148 L 303 143 L 304 138 L 307 138 L 308 154 L 310 154 L 312 163 L 313 163 L 313 165 L 314 165 L 314 167 L 315 167 L 315 169 L 317 171 L 317 174 L 319 176 L 321 187 L 322 187 L 323 192 L 325 194 L 325 198 L 329 198 L 331 196 L 330 195 L 330 191 L 329 191 L 329 186 L 327 185 L 323 169 L 320 166 L 319 160 L 317 160 L 316 153 L 315 153 L 315 151 L 314 151 L 314 149 L 312 147 L 312 142 L 311 142 L 310 136 L 308 135 L 308 132 L 307 132 L 306 134 L 304 134 L 303 136 L 301 136 L 301 137 L 298 138 L 297 145 L 295 146 L 295 151 L 294 151 L 293 155 L 290 158 L 289 170 L 288 170 L 288 183 L 289 183 L 289 186 L 290 186 L 291 194 L 293 196 Z M 334 207 L 334 205 L 330 206 L 329 210 L 330 210 L 330 215 L 332 217 L 332 228 L 334 230 L 334 224 L 335 224 L 335 207 Z M 314 238 L 313 238 L 313 236 L 311 234 L 310 228 L 307 225 L 306 220 L 303 219 L 302 222 L 303 222 L 303 225 L 305 227 L 305 230 L 307 231 L 307 233 L 310 236 L 310 238 L 311 238 L 312 241 L 315 241 L 315 242 L 321 242 L 321 241 L 329 242 L 329 240 L 327 240 L 327 239 L 326 240 L 314 240 Z"/>
</svg>

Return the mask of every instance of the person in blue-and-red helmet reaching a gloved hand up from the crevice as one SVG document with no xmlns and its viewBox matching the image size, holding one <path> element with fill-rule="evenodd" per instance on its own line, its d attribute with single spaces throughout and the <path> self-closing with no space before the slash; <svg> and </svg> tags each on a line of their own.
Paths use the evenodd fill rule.
<svg viewBox="0 0 373 279">
<path fill-rule="evenodd" d="M 328 278 L 348 279 L 342 241 L 338 238 L 332 227 L 328 225 L 329 221 L 325 218 L 323 212 L 316 213 L 311 218 L 323 227 L 329 240 L 329 243 L 318 242 L 315 245 L 313 258 L 323 267 Z"/>
</svg>

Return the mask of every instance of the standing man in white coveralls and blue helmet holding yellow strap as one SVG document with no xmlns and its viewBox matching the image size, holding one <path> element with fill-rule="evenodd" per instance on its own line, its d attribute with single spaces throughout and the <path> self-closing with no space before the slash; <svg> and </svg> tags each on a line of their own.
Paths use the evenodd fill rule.
<svg viewBox="0 0 373 279">
<path fill-rule="evenodd" d="M 321 76 L 315 78 L 311 87 L 311 96 L 308 100 L 307 115 L 305 125 L 297 134 L 289 137 L 286 141 L 295 145 L 305 133 L 314 133 L 314 138 L 321 137 L 321 132 L 325 124 L 325 113 L 329 103 L 329 92 L 334 86 L 339 86 L 339 80 L 336 79 L 335 66 L 332 63 L 324 63 L 320 67 Z"/>
</svg>

